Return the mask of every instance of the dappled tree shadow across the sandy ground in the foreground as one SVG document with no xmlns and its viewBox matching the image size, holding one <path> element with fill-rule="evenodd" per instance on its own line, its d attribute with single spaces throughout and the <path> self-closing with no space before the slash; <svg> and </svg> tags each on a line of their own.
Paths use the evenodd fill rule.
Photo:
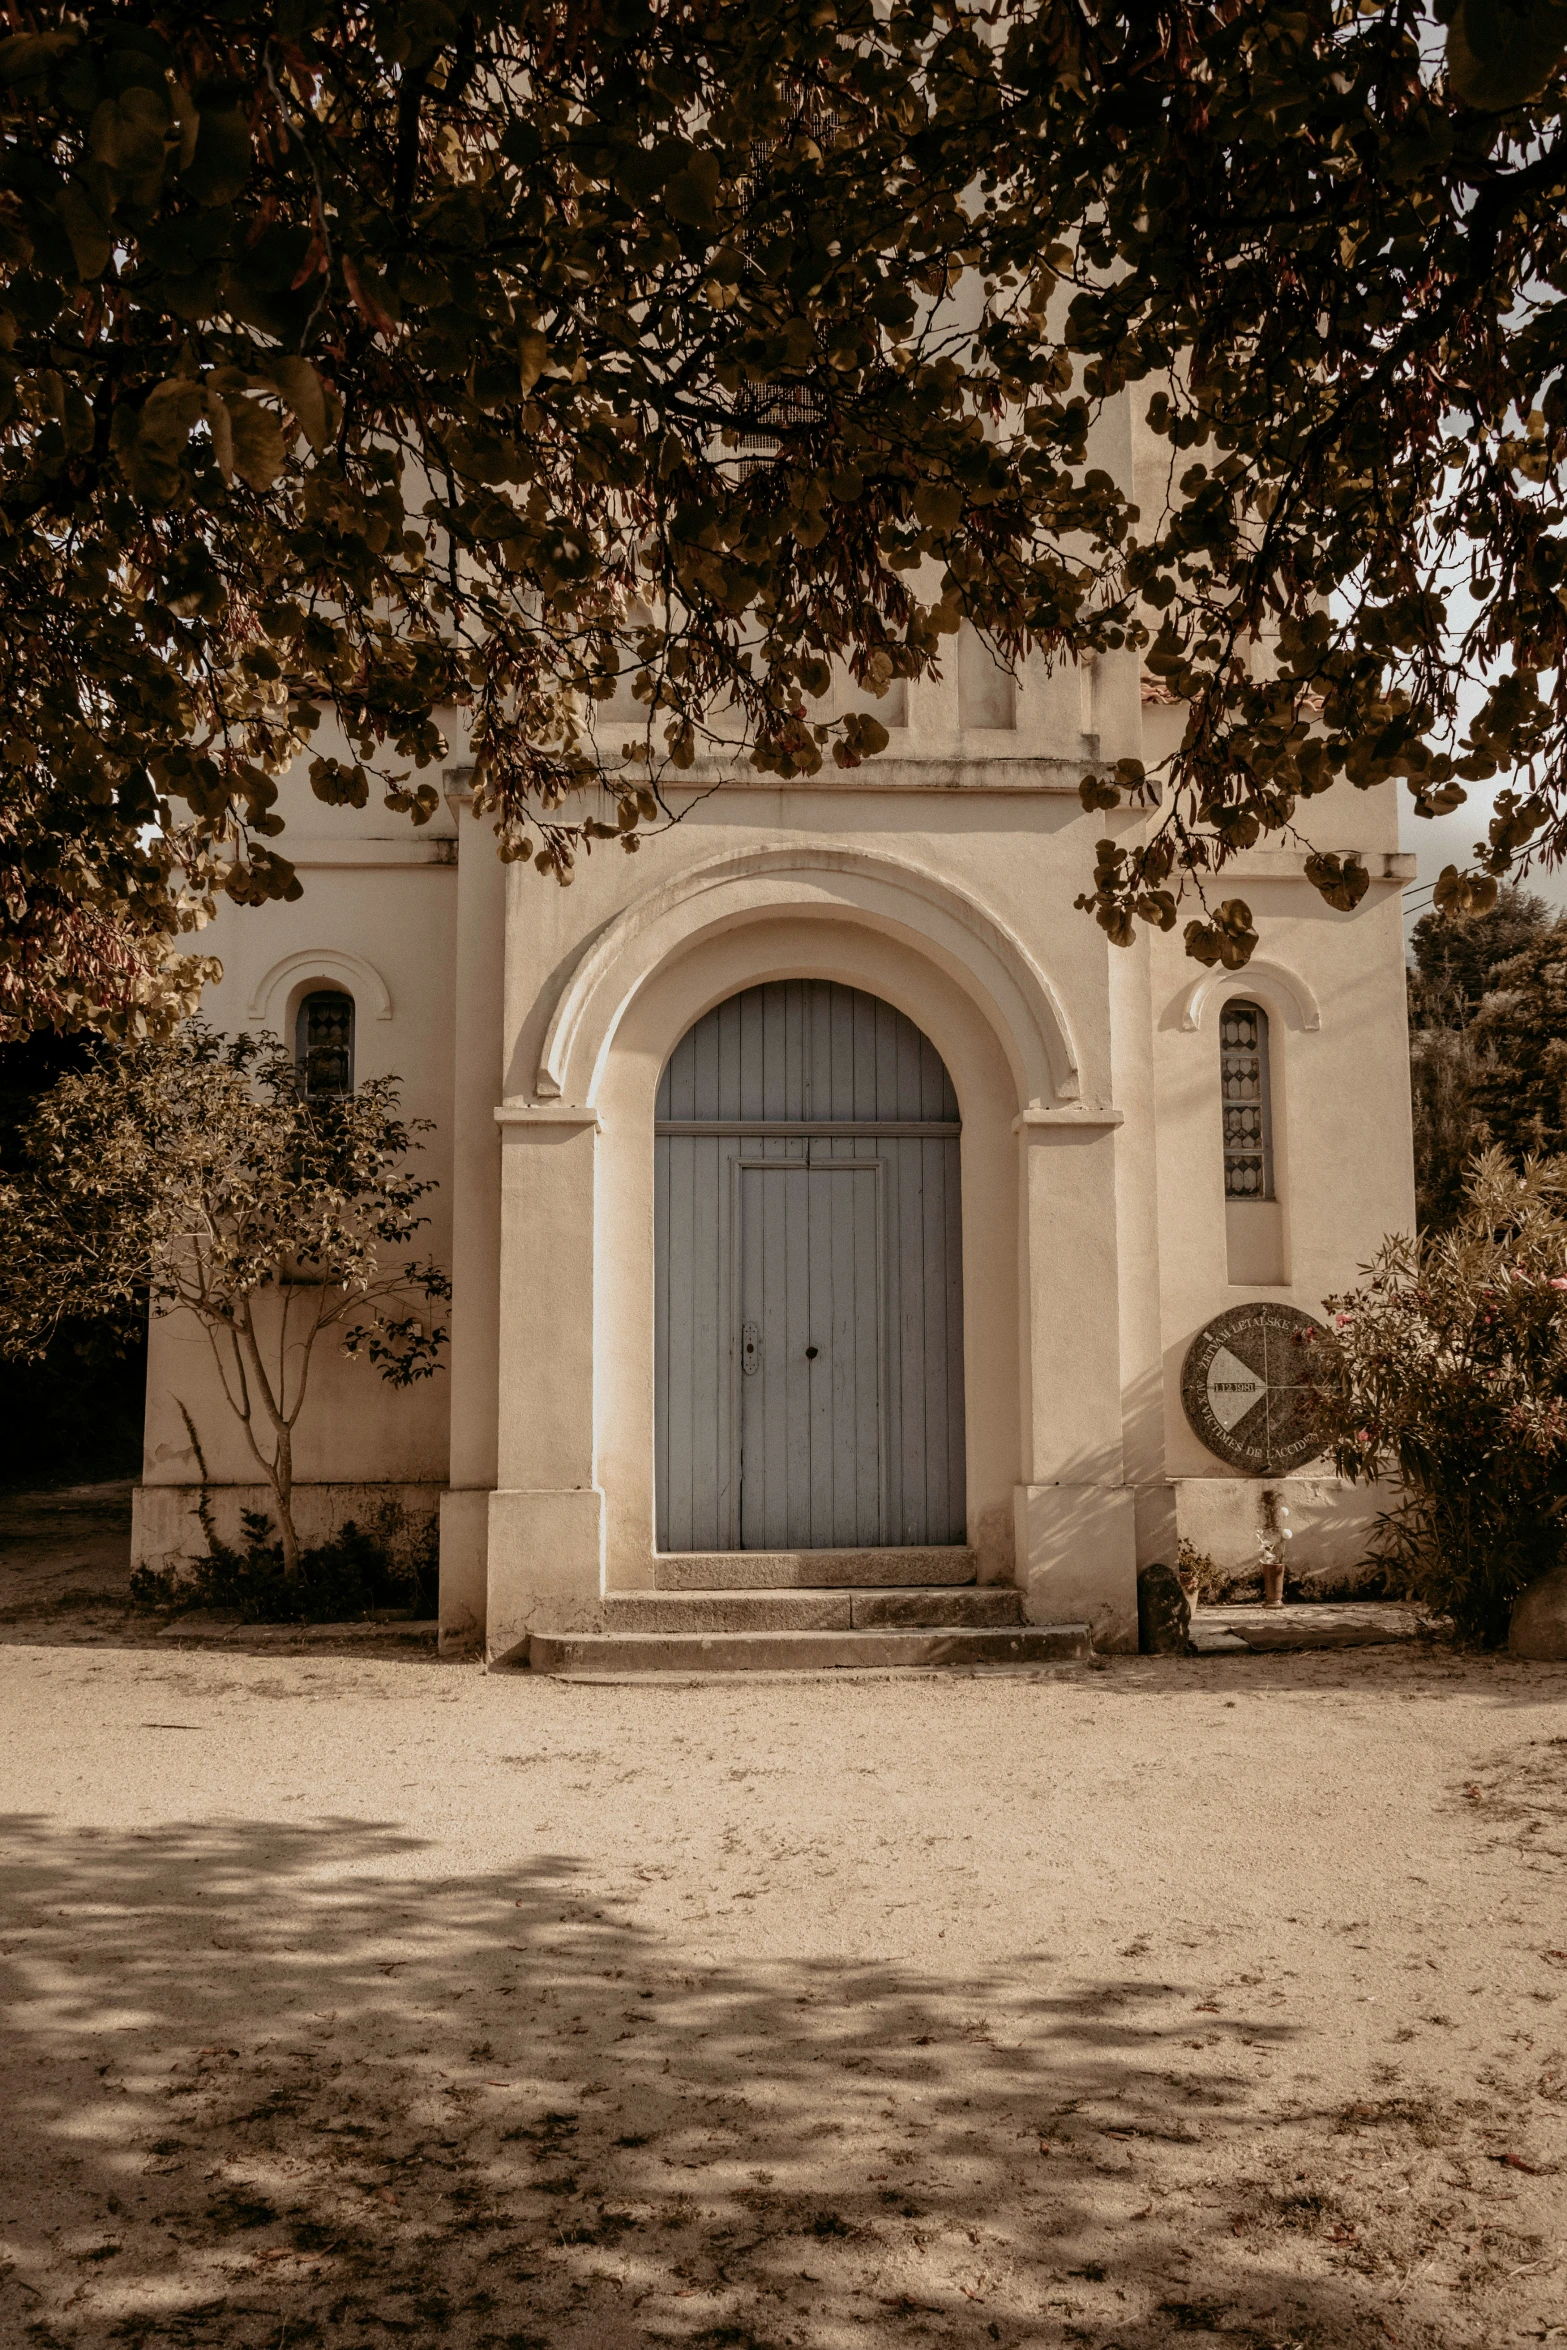
<svg viewBox="0 0 1567 2350">
<path fill-rule="evenodd" d="M 1388 2338 L 1287 2186 L 1358 2124 L 1191 1986 L 691 1972 L 571 1856 L 413 1880 L 355 1819 L 5 1849 L 5 2341 Z"/>
</svg>

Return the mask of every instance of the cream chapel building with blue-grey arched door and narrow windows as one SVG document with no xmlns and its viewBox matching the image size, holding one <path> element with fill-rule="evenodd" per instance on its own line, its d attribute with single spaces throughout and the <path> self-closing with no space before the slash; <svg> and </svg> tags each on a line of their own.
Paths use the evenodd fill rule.
<svg viewBox="0 0 1567 2350">
<path fill-rule="evenodd" d="M 439 1513 L 442 1636 L 493 1664 L 1128 1650 L 1139 1565 L 1182 1535 L 1245 1565 L 1283 1509 L 1297 1572 L 1353 1565 L 1379 1497 L 1273 1462 L 1273 1375 L 1203 1332 L 1320 1316 L 1412 1227 L 1414 860 L 1393 790 L 1344 787 L 1306 822 L 1365 860 L 1353 914 L 1271 846 L 1217 888 L 1245 971 L 1179 928 L 1111 947 L 1074 898 L 1146 818 L 1078 780 L 1172 745 L 1146 693 L 1137 656 L 1013 682 L 959 637 L 872 705 L 879 759 L 691 771 L 569 888 L 496 858 L 456 750 L 418 832 L 289 778 L 303 898 L 223 909 L 204 1010 L 404 1081 L 453 1276 L 435 1379 L 312 1370 L 301 1532 Z M 265 1502 L 204 1337 L 160 1321 L 143 1560 L 202 1549 L 186 1412 L 218 1523 Z"/>
</svg>

